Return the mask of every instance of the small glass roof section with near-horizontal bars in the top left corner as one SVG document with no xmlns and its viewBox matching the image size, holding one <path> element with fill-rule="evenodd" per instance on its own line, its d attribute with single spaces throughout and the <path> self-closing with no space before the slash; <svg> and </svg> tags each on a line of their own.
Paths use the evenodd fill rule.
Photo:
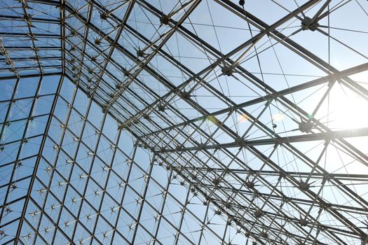
<svg viewBox="0 0 368 245">
<path fill-rule="evenodd" d="M 0 1 L 1 77 L 62 72 L 58 6 L 58 1 Z"/>
</svg>

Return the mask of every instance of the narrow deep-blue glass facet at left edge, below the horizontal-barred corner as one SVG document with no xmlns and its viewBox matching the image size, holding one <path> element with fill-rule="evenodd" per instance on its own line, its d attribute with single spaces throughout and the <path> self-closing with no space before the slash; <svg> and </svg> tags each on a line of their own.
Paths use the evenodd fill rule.
<svg viewBox="0 0 368 245">
<path fill-rule="evenodd" d="M 0 239 L 14 239 L 60 76 L 0 80 Z"/>
</svg>

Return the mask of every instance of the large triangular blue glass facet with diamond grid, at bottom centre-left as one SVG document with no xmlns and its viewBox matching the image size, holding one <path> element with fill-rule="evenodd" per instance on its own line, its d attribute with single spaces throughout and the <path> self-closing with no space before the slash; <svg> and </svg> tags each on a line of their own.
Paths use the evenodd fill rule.
<svg viewBox="0 0 368 245">
<path fill-rule="evenodd" d="M 245 237 L 64 78 L 20 242 L 70 241 L 241 244 Z"/>
</svg>

